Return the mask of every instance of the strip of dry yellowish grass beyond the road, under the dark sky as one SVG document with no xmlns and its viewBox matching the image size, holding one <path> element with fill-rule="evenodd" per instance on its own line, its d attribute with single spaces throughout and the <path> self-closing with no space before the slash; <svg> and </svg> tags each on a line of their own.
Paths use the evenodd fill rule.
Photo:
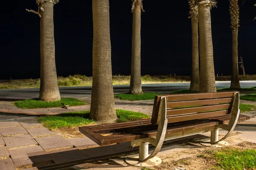
<svg viewBox="0 0 256 170">
<path fill-rule="evenodd" d="M 130 76 L 114 75 L 113 85 L 129 85 Z M 215 77 L 216 81 L 230 81 L 231 76 Z M 256 75 L 240 75 L 239 79 L 242 80 L 256 80 Z M 58 77 L 59 87 L 65 86 L 91 86 L 93 82 L 92 77 L 84 75 L 74 75 L 69 77 Z M 155 84 L 155 83 L 175 83 L 175 82 L 190 82 L 189 76 L 150 76 L 145 75 L 141 77 L 142 84 Z M 20 79 L 20 80 L 0 80 L 0 89 L 11 88 L 39 88 L 40 79 Z"/>
</svg>

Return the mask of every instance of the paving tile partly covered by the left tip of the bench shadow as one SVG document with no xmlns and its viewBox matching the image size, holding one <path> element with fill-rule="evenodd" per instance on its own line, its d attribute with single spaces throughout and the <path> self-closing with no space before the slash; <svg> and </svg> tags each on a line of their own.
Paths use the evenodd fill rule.
<svg viewBox="0 0 256 170">
<path fill-rule="evenodd" d="M 40 146 L 13 149 L 9 150 L 9 153 L 15 167 L 52 162 L 52 159 L 47 155 L 47 153 L 45 153 L 43 148 Z"/>
</svg>

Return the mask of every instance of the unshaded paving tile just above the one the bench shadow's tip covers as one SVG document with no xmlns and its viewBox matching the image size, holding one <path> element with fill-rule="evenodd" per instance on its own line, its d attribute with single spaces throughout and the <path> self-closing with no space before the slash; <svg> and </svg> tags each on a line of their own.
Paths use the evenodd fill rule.
<svg viewBox="0 0 256 170">
<path fill-rule="evenodd" d="M 21 146 L 28 146 L 37 144 L 33 139 L 32 136 L 29 134 L 27 135 L 19 135 L 19 136 L 10 136 L 10 137 L 3 137 L 4 142 L 8 148 L 11 147 L 21 147 Z"/>
</svg>

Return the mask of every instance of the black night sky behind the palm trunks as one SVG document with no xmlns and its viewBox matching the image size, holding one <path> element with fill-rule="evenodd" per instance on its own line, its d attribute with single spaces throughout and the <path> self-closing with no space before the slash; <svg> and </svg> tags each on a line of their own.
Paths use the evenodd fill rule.
<svg viewBox="0 0 256 170">
<path fill-rule="evenodd" d="M 79 3 L 78 3 L 79 2 Z M 91 0 L 60 0 L 54 6 L 55 58 L 58 76 L 92 74 L 93 21 Z M 239 56 L 246 74 L 256 74 L 256 7 L 240 6 Z M 241 5 L 241 4 L 240 4 Z M 39 78 L 39 17 L 35 0 L 5 0 L 0 11 L 0 79 Z M 187 0 L 144 0 L 142 14 L 142 74 L 190 75 L 191 21 Z M 113 74 L 130 74 L 131 0 L 110 0 Z M 212 9 L 215 73 L 231 74 L 229 1 Z M 240 70 L 241 73 L 241 70 Z"/>
</svg>

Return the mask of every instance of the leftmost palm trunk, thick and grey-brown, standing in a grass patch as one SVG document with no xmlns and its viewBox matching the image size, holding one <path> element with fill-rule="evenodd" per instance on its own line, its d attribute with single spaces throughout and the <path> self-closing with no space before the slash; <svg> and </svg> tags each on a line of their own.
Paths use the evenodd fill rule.
<svg viewBox="0 0 256 170">
<path fill-rule="evenodd" d="M 40 19 L 40 94 L 39 99 L 47 102 L 61 99 L 55 65 L 55 42 L 53 3 L 45 2 Z"/>
</svg>

